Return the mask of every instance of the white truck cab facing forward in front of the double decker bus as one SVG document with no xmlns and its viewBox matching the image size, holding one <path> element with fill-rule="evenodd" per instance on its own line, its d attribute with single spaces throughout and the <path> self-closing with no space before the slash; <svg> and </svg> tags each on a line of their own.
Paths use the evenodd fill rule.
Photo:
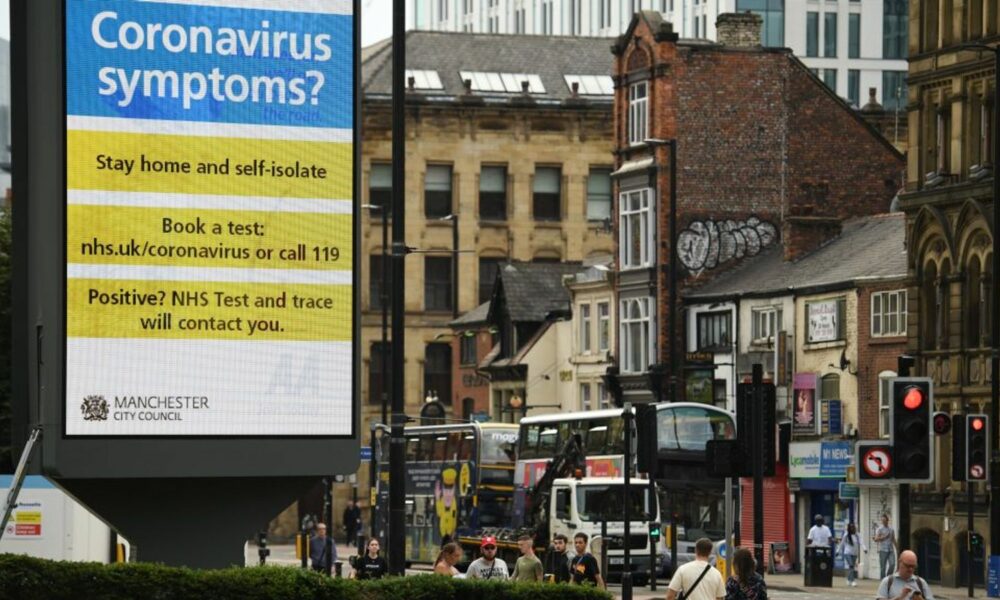
<svg viewBox="0 0 1000 600">
<path fill-rule="evenodd" d="M 649 561 L 658 561 L 656 549 L 650 552 L 649 522 L 650 515 L 660 514 L 660 508 L 656 495 L 650 497 L 647 480 L 631 479 L 630 487 L 629 569 L 639 583 L 648 577 Z M 620 477 L 564 478 L 553 482 L 549 498 L 549 534 L 565 535 L 571 549 L 573 536 L 578 533 L 587 534 L 591 541 L 599 540 L 601 523 L 607 522 L 608 578 L 620 577 L 625 569 L 624 492 L 625 480 Z M 590 543 L 588 547 L 600 562 L 600 544 Z"/>
</svg>

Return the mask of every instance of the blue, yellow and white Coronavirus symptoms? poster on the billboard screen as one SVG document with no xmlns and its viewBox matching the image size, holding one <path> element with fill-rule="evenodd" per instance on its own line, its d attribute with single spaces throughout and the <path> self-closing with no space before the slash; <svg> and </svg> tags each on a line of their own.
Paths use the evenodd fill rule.
<svg viewBox="0 0 1000 600">
<path fill-rule="evenodd" d="M 66 0 L 67 436 L 350 436 L 346 0 Z"/>
</svg>

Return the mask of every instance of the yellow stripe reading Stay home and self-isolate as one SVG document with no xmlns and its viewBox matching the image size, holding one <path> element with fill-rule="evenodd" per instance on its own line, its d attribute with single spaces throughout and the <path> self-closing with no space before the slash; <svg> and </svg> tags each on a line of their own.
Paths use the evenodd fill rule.
<svg viewBox="0 0 1000 600">
<path fill-rule="evenodd" d="M 113 150 L 112 150 L 113 149 Z M 66 132 L 67 187 L 290 198 L 350 198 L 349 143 Z"/>
</svg>

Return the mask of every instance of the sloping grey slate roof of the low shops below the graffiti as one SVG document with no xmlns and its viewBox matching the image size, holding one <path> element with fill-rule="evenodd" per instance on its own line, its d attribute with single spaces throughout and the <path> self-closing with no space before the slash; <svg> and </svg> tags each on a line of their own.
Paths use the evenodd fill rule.
<svg viewBox="0 0 1000 600">
<path fill-rule="evenodd" d="M 845 221 L 838 237 L 794 262 L 785 261 L 776 244 L 684 297 L 774 295 L 906 275 L 905 216 L 888 213 Z"/>
</svg>

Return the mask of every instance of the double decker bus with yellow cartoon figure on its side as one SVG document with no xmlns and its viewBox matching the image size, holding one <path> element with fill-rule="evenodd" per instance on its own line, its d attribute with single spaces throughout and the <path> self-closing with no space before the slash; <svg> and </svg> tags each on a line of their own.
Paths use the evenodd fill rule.
<svg viewBox="0 0 1000 600">
<path fill-rule="evenodd" d="M 429 563 L 441 545 L 511 519 L 517 425 L 463 423 L 407 427 L 406 560 Z M 385 439 L 385 438 L 383 438 Z M 389 515 L 388 443 L 376 455 L 376 532 Z"/>
</svg>

